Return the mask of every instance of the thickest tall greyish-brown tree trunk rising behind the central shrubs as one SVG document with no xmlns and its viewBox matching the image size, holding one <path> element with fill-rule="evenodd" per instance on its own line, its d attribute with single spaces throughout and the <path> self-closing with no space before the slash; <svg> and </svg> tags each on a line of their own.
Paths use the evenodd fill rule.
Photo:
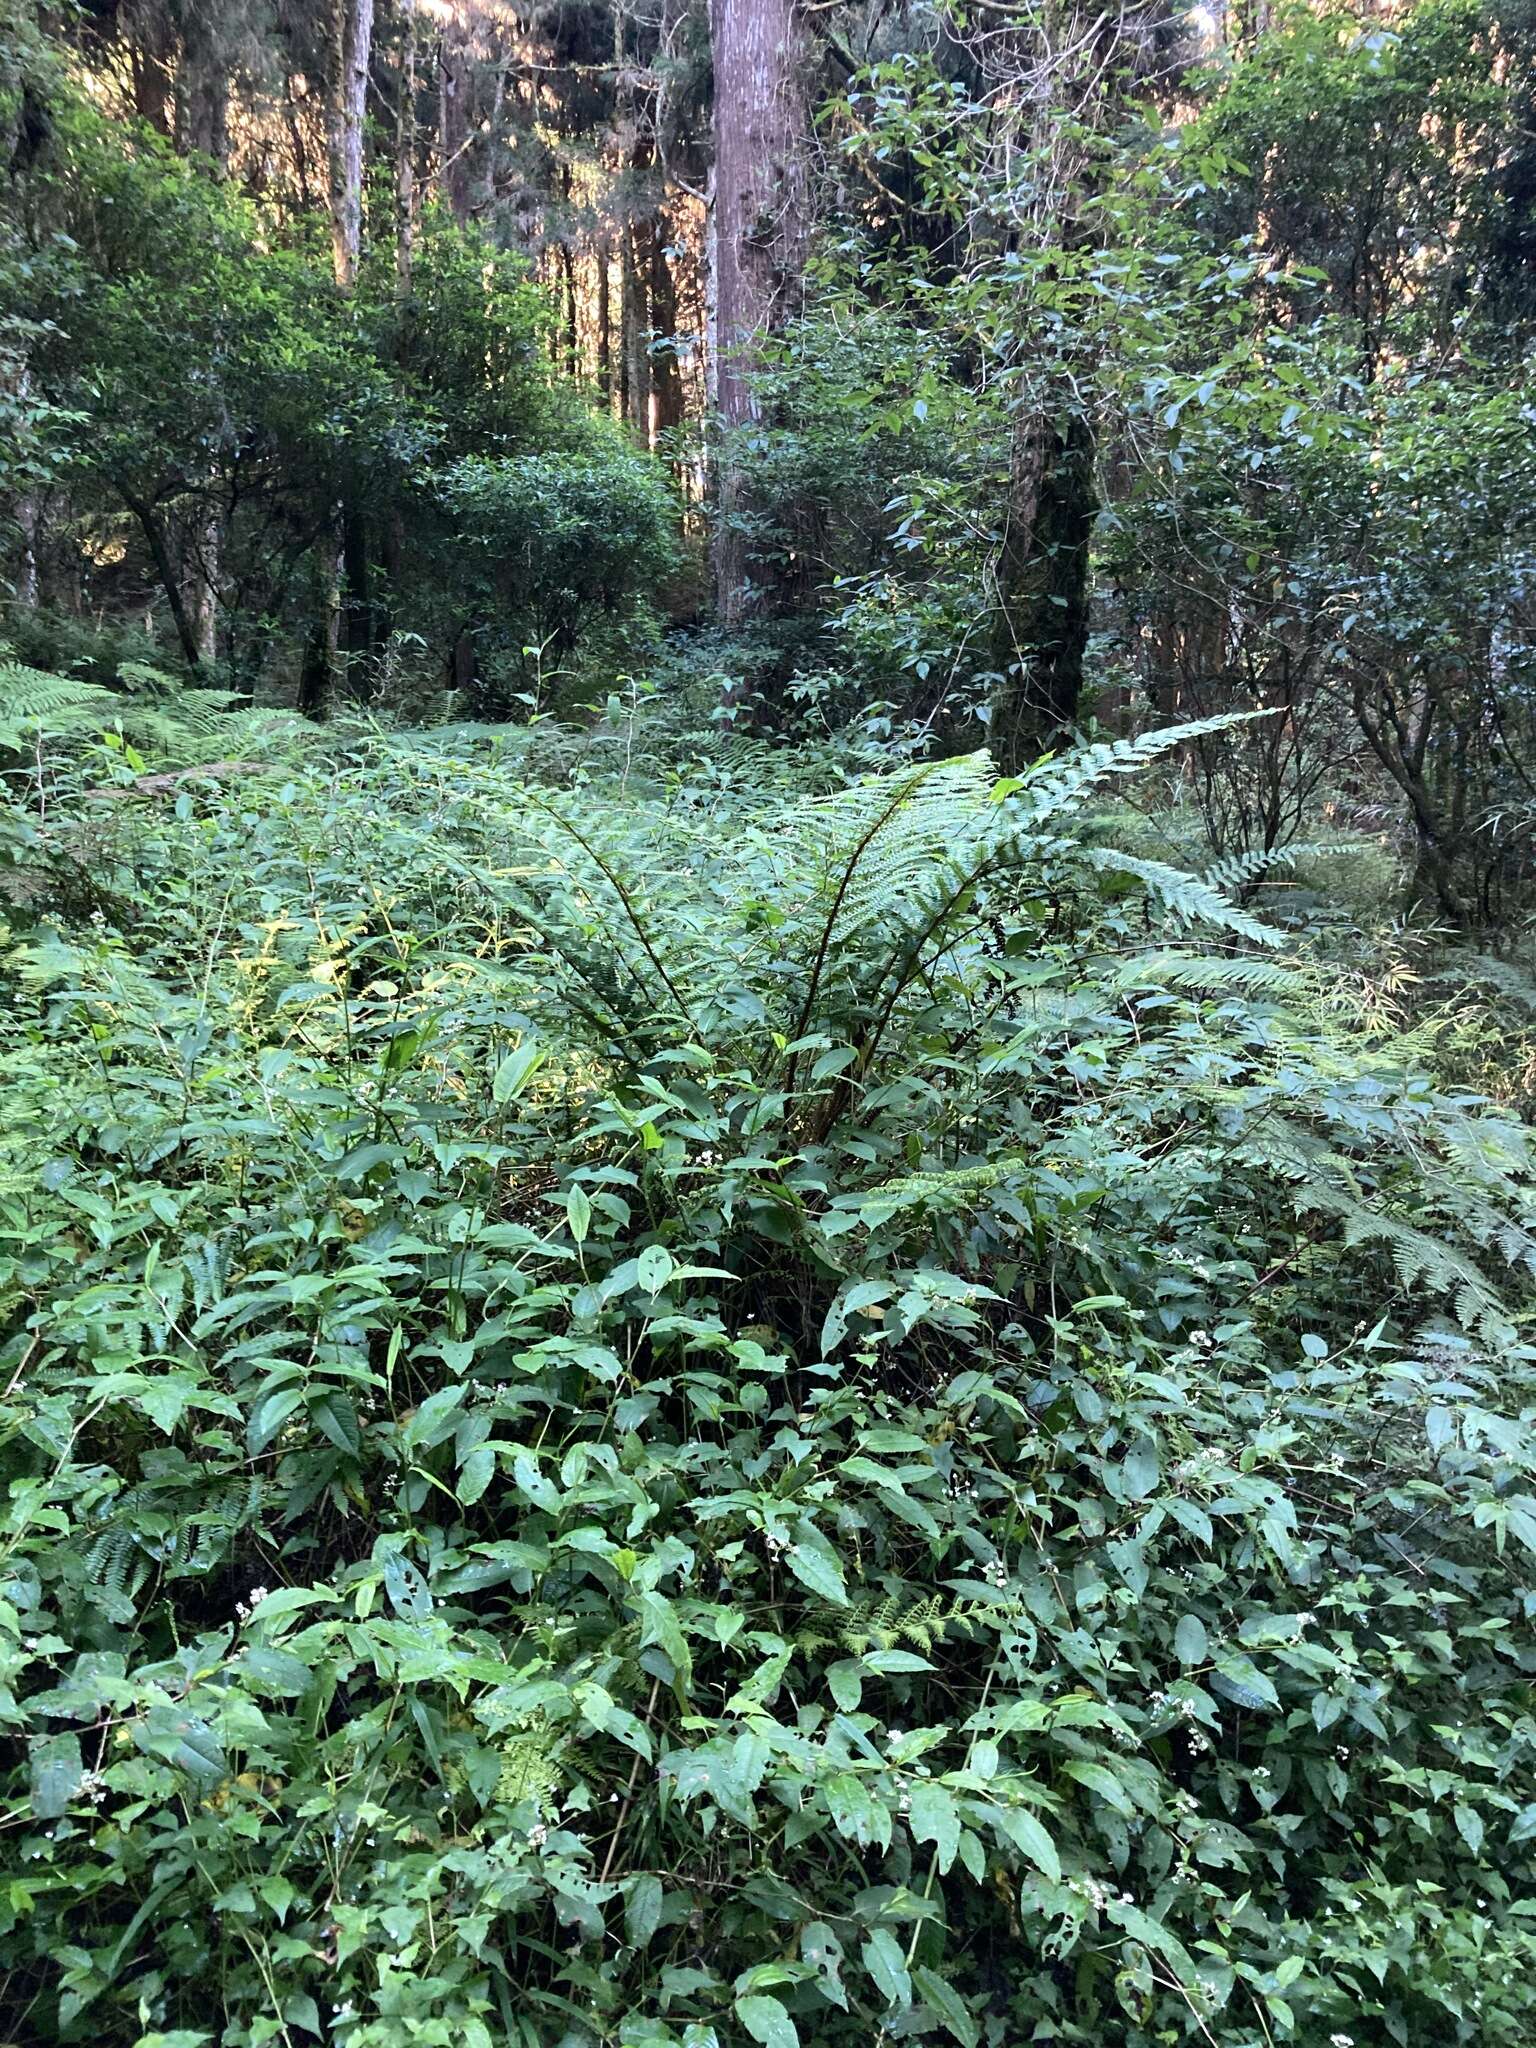
<svg viewBox="0 0 1536 2048">
<path fill-rule="evenodd" d="M 711 0 L 715 51 L 715 600 L 725 625 L 760 606 L 774 567 L 750 541 L 754 506 L 733 449 L 758 418 L 752 369 L 799 307 L 809 238 L 805 29 L 799 0 Z"/>
</svg>

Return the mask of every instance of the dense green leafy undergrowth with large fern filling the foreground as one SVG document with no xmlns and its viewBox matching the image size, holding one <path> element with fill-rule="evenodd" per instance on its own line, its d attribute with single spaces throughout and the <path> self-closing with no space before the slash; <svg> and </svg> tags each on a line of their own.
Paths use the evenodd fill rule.
<svg viewBox="0 0 1536 2048">
<path fill-rule="evenodd" d="M 0 2034 L 1530 2040 L 1530 1133 L 1161 743 L 10 815 Z"/>
</svg>

